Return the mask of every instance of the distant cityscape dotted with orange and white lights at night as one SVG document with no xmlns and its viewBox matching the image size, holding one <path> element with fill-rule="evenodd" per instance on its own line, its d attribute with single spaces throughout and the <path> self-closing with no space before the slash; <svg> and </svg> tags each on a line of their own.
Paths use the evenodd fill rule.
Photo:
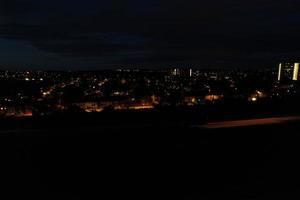
<svg viewBox="0 0 300 200">
<path fill-rule="evenodd" d="M 297 99 L 299 63 L 274 69 L 0 71 L 0 116 L 252 105 Z"/>
</svg>

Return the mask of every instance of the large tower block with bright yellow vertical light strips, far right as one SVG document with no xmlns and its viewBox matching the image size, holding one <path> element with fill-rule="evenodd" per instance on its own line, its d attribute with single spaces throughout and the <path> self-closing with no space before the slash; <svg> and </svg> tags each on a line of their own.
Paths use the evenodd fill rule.
<svg viewBox="0 0 300 200">
<path fill-rule="evenodd" d="M 278 81 L 297 81 L 299 78 L 299 63 L 280 63 L 278 66 Z"/>
</svg>

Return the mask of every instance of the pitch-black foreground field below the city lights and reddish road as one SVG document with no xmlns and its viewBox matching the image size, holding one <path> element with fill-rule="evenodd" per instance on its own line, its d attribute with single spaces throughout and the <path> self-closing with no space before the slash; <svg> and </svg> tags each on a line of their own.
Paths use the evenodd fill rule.
<svg viewBox="0 0 300 200">
<path fill-rule="evenodd" d="M 299 128 L 3 130 L 1 199 L 299 199 Z"/>
</svg>

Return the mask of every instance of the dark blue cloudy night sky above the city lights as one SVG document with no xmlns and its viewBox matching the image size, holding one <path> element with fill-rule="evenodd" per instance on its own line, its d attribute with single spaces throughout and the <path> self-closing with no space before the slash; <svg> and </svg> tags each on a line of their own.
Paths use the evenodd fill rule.
<svg viewBox="0 0 300 200">
<path fill-rule="evenodd" d="M 266 67 L 299 55 L 299 0 L 0 0 L 0 69 Z"/>
</svg>

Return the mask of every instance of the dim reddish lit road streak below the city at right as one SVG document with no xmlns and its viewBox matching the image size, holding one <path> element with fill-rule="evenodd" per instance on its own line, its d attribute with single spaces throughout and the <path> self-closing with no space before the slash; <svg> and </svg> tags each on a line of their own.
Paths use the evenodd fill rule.
<svg viewBox="0 0 300 200">
<path fill-rule="evenodd" d="M 288 117 L 269 117 L 269 118 L 256 118 L 247 120 L 233 120 L 233 121 L 220 121 L 211 122 L 205 125 L 201 125 L 201 128 L 218 129 L 218 128 L 231 128 L 231 127 L 243 127 L 243 126 L 256 126 L 267 124 L 280 124 L 291 121 L 300 121 L 300 116 L 288 116 Z"/>
</svg>

